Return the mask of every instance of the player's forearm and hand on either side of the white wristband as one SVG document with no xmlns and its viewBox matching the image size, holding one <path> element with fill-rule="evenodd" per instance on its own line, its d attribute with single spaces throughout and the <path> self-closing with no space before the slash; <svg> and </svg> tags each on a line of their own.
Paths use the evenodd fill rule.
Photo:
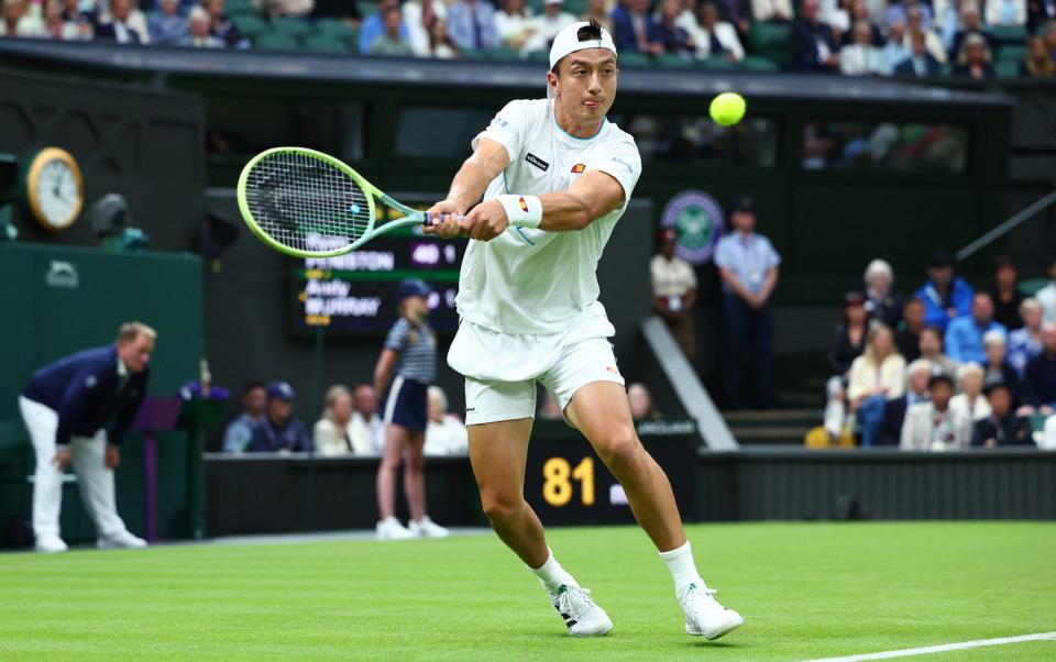
<svg viewBox="0 0 1056 662">
<path fill-rule="evenodd" d="M 624 202 L 624 187 L 603 170 L 587 170 L 566 191 L 524 196 L 524 205 L 541 205 L 542 220 L 538 228 L 548 232 L 583 230 Z M 538 218 L 538 217 L 537 217 Z M 488 241 L 509 227 L 509 213 L 501 198 L 493 198 L 473 209 L 462 221 L 462 231 L 471 239 Z"/>
</svg>

